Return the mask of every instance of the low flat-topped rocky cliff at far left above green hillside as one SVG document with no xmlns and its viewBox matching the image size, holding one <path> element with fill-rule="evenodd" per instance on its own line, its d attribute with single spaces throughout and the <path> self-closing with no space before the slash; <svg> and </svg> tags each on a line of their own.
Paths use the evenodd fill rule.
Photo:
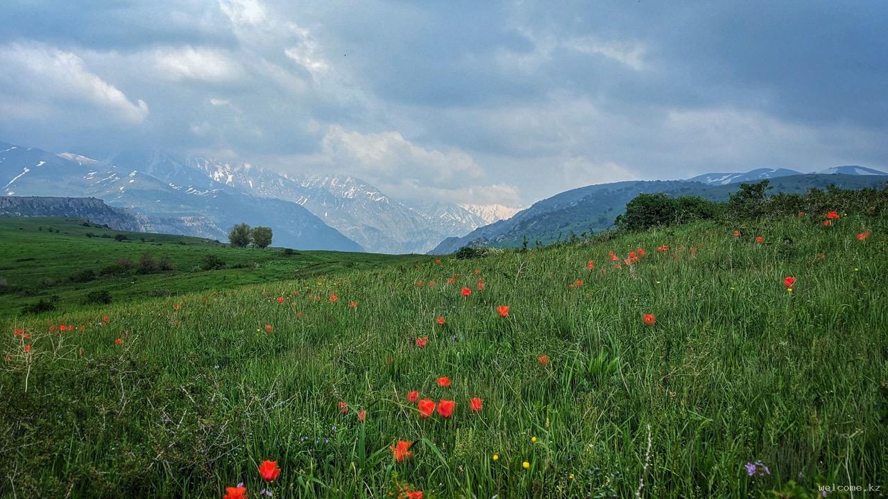
<svg viewBox="0 0 888 499">
<path fill-rule="evenodd" d="M 94 197 L 0 196 L 0 216 L 83 218 L 117 230 L 143 230 L 131 213 Z"/>
</svg>

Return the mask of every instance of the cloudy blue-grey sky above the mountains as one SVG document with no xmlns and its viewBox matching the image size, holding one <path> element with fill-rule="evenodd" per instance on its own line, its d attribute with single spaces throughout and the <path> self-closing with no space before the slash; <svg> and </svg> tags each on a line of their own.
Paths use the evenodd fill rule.
<svg viewBox="0 0 888 499">
<path fill-rule="evenodd" d="M 711 171 L 888 170 L 888 3 L 5 0 L 0 140 L 526 205 Z"/>
</svg>

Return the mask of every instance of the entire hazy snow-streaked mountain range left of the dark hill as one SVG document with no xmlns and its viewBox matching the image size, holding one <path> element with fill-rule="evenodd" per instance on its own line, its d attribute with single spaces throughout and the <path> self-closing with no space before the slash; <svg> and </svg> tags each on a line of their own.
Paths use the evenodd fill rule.
<svg viewBox="0 0 888 499">
<path fill-rule="evenodd" d="M 424 253 L 468 234 L 503 206 L 408 206 L 359 178 L 291 178 L 255 165 L 126 151 L 102 160 L 0 142 L 0 194 L 96 197 L 127 208 L 139 230 L 226 239 L 235 223 L 271 226 L 276 245 Z"/>
</svg>

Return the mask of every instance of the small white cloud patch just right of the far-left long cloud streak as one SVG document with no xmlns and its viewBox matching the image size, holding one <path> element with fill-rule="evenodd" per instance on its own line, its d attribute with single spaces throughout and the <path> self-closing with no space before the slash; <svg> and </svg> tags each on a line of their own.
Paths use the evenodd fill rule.
<svg viewBox="0 0 888 499">
<path fill-rule="evenodd" d="M 242 74 L 240 65 L 218 50 L 193 47 L 155 49 L 152 53 L 157 75 L 167 80 L 226 82 Z"/>
</svg>

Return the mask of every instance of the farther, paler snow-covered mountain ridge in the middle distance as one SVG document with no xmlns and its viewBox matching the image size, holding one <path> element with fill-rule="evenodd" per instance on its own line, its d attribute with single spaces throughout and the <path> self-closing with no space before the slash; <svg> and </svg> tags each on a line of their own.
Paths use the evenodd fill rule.
<svg viewBox="0 0 888 499">
<path fill-rule="evenodd" d="M 408 207 L 360 178 L 297 177 L 206 158 L 190 163 L 213 181 L 244 193 L 296 202 L 369 251 L 424 253 L 485 224 L 456 205 Z"/>
</svg>

